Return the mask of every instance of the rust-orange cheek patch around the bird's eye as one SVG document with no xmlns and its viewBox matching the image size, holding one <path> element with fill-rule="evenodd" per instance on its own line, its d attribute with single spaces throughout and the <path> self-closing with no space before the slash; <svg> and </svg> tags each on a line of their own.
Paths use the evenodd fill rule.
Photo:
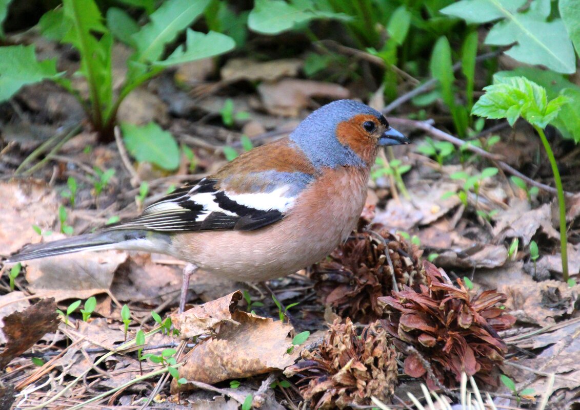
<svg viewBox="0 0 580 410">
<path fill-rule="evenodd" d="M 359 114 L 348 121 L 343 121 L 336 127 L 336 138 L 340 144 L 347 145 L 360 158 L 371 164 L 376 157 L 376 140 L 362 129 L 361 124 L 365 121 L 377 122 L 373 115 Z"/>
</svg>

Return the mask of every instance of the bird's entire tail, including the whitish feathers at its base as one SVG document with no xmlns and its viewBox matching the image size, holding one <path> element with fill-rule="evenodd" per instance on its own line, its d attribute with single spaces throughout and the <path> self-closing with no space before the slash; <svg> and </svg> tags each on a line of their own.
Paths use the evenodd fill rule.
<svg viewBox="0 0 580 410">
<path fill-rule="evenodd" d="M 52 242 L 28 244 L 10 255 L 5 262 L 20 262 L 85 250 L 100 251 L 107 249 L 171 254 L 171 237 L 164 233 L 137 229 L 118 229 L 89 233 Z"/>
</svg>

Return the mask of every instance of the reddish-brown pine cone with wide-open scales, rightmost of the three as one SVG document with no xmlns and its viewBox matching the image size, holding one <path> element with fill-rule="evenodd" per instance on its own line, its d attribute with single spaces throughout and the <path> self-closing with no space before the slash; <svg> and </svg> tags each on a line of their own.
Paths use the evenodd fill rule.
<svg viewBox="0 0 580 410">
<path fill-rule="evenodd" d="M 404 286 L 379 298 L 387 312 L 380 323 L 397 350 L 407 354 L 405 373 L 425 379 L 430 389 L 436 383 L 429 372 L 448 387 L 459 383 L 462 371 L 497 386 L 498 365 L 506 353 L 497 332 L 516 320 L 497 306 L 506 296 L 491 290 L 470 295 L 461 279 L 457 288 L 432 263 L 425 261 L 423 267 L 427 284 L 418 291 Z"/>
</svg>

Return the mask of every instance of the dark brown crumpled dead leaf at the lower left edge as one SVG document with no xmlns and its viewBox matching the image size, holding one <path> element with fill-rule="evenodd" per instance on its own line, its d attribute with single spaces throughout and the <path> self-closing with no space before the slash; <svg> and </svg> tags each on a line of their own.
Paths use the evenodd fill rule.
<svg viewBox="0 0 580 410">
<path fill-rule="evenodd" d="M 38 339 L 55 332 L 59 326 L 55 299 L 42 299 L 23 312 L 14 312 L 4 318 L 2 332 L 8 340 L 0 354 L 0 369 L 10 360 L 26 352 Z"/>
</svg>

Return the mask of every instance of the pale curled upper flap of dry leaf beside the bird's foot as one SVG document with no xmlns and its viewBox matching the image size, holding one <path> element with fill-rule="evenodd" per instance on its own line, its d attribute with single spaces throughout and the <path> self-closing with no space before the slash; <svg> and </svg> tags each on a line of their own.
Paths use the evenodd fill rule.
<svg viewBox="0 0 580 410">
<path fill-rule="evenodd" d="M 194 306 L 183 313 L 174 313 L 170 316 L 171 323 L 179 330 L 179 336 L 182 339 L 213 334 L 226 323 L 239 325 L 232 319 L 232 312 L 242 297 L 242 292 L 235 291 L 215 301 Z"/>
</svg>

